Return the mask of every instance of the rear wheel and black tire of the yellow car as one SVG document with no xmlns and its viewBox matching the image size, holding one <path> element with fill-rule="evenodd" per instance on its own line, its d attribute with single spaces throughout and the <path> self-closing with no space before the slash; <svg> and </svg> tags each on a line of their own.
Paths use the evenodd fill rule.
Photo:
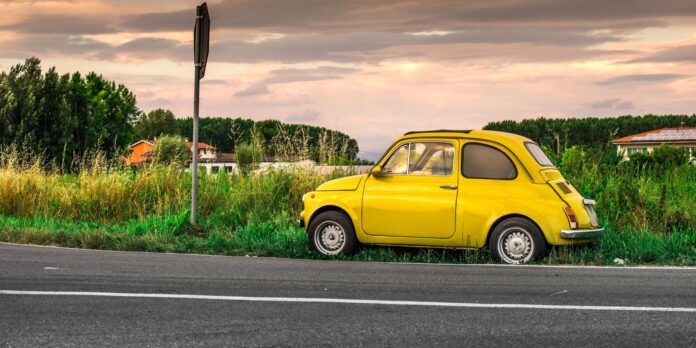
<svg viewBox="0 0 696 348">
<path fill-rule="evenodd" d="M 493 229 L 488 242 L 493 257 L 509 264 L 539 260 L 546 255 L 546 239 L 539 228 L 525 218 L 509 218 Z"/>
</svg>

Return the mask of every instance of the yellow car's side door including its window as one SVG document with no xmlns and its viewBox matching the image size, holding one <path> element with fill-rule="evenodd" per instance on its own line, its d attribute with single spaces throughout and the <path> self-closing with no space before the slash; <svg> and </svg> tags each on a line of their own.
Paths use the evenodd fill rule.
<svg viewBox="0 0 696 348">
<path fill-rule="evenodd" d="M 365 182 L 365 233 L 451 237 L 456 227 L 457 148 L 456 140 L 411 140 L 394 146 L 382 163 L 382 175 L 370 175 Z"/>
</svg>

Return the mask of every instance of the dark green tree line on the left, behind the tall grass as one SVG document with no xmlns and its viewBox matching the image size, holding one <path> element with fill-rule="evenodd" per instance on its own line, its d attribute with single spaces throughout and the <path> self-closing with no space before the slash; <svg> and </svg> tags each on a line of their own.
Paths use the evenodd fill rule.
<svg viewBox="0 0 696 348">
<path fill-rule="evenodd" d="M 192 121 L 164 109 L 142 112 L 124 85 L 101 75 L 45 73 L 41 60 L 29 58 L 0 73 L 0 147 L 18 146 L 70 168 L 76 159 L 99 151 L 117 157 L 139 139 L 161 135 L 190 138 Z M 276 120 L 201 118 L 200 139 L 221 151 L 263 143 L 266 156 L 353 161 L 358 144 L 323 127 Z"/>
</svg>

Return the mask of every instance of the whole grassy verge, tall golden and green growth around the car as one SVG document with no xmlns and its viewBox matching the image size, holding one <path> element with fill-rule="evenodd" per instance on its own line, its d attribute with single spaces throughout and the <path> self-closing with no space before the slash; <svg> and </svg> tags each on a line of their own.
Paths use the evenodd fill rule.
<svg viewBox="0 0 696 348">
<path fill-rule="evenodd" d="M 22 162 L 22 163 L 20 163 Z M 667 170 L 582 163 L 561 168 L 598 201 L 604 237 L 555 248 L 547 264 L 696 264 L 696 166 Z M 330 179 L 305 171 L 201 175 L 200 228 L 188 224 L 190 174 L 133 171 L 99 158 L 79 174 L 0 154 L 0 241 L 79 248 L 324 258 L 294 227 L 303 193 Z M 487 251 L 363 248 L 353 260 L 492 262 Z"/>
</svg>

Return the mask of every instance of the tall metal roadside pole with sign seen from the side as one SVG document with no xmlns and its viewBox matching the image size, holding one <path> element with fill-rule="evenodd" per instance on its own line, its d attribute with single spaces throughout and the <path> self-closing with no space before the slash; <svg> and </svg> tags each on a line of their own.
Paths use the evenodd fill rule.
<svg viewBox="0 0 696 348">
<path fill-rule="evenodd" d="M 191 148 L 191 224 L 198 219 L 198 109 L 201 79 L 205 76 L 210 43 L 210 16 L 208 5 L 196 7 L 196 25 L 193 28 L 193 61 L 195 78 L 193 85 L 193 145 Z"/>
</svg>

